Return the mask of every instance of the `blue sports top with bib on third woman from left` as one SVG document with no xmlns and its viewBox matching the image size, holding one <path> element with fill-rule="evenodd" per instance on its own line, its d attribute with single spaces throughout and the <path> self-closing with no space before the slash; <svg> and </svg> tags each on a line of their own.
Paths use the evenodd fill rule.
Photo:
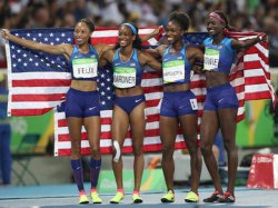
<svg viewBox="0 0 278 208">
<path fill-rule="evenodd" d="M 187 59 L 186 46 L 177 53 L 170 53 L 170 47 L 162 57 L 163 85 L 190 82 L 191 65 Z"/>
</svg>

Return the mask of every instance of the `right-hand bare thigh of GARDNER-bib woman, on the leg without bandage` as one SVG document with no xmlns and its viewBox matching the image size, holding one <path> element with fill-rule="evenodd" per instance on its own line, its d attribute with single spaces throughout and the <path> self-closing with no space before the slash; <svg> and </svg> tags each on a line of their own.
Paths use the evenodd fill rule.
<svg viewBox="0 0 278 208">
<path fill-rule="evenodd" d="M 130 127 L 132 132 L 132 145 L 138 147 L 142 146 L 146 119 L 145 119 L 146 102 L 138 105 L 130 113 Z"/>
</svg>

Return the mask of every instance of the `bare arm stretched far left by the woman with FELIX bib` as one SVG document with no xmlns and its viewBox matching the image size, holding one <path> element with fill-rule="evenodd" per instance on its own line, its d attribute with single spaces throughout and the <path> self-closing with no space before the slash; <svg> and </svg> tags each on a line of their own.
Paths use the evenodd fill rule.
<svg viewBox="0 0 278 208">
<path fill-rule="evenodd" d="M 72 46 L 69 43 L 54 44 L 54 46 L 40 43 L 40 42 L 36 42 L 32 40 L 27 40 L 27 39 L 22 39 L 22 38 L 19 38 L 17 36 L 13 36 L 7 29 L 1 30 L 1 36 L 6 40 L 12 41 L 12 42 L 20 44 L 22 47 L 48 52 L 48 53 L 52 53 L 52 55 L 63 55 L 67 59 L 69 59 L 71 50 L 72 50 Z"/>
</svg>

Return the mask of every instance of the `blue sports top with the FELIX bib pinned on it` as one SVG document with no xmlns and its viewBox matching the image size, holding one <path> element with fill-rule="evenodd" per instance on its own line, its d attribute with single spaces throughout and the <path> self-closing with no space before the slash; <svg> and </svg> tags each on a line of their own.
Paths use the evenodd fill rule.
<svg viewBox="0 0 278 208">
<path fill-rule="evenodd" d="M 72 79 L 97 81 L 98 60 L 99 56 L 92 46 L 86 55 L 81 53 L 75 46 L 70 56 Z"/>
</svg>

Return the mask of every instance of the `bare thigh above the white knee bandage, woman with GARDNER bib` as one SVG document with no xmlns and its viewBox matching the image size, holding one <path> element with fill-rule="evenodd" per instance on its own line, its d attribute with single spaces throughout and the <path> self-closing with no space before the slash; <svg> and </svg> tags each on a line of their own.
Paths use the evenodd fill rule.
<svg viewBox="0 0 278 208">
<path fill-rule="evenodd" d="M 129 117 L 126 111 L 123 111 L 120 107 L 113 106 L 113 115 L 112 115 L 112 140 L 117 140 L 122 147 L 127 131 L 129 128 Z"/>
</svg>

